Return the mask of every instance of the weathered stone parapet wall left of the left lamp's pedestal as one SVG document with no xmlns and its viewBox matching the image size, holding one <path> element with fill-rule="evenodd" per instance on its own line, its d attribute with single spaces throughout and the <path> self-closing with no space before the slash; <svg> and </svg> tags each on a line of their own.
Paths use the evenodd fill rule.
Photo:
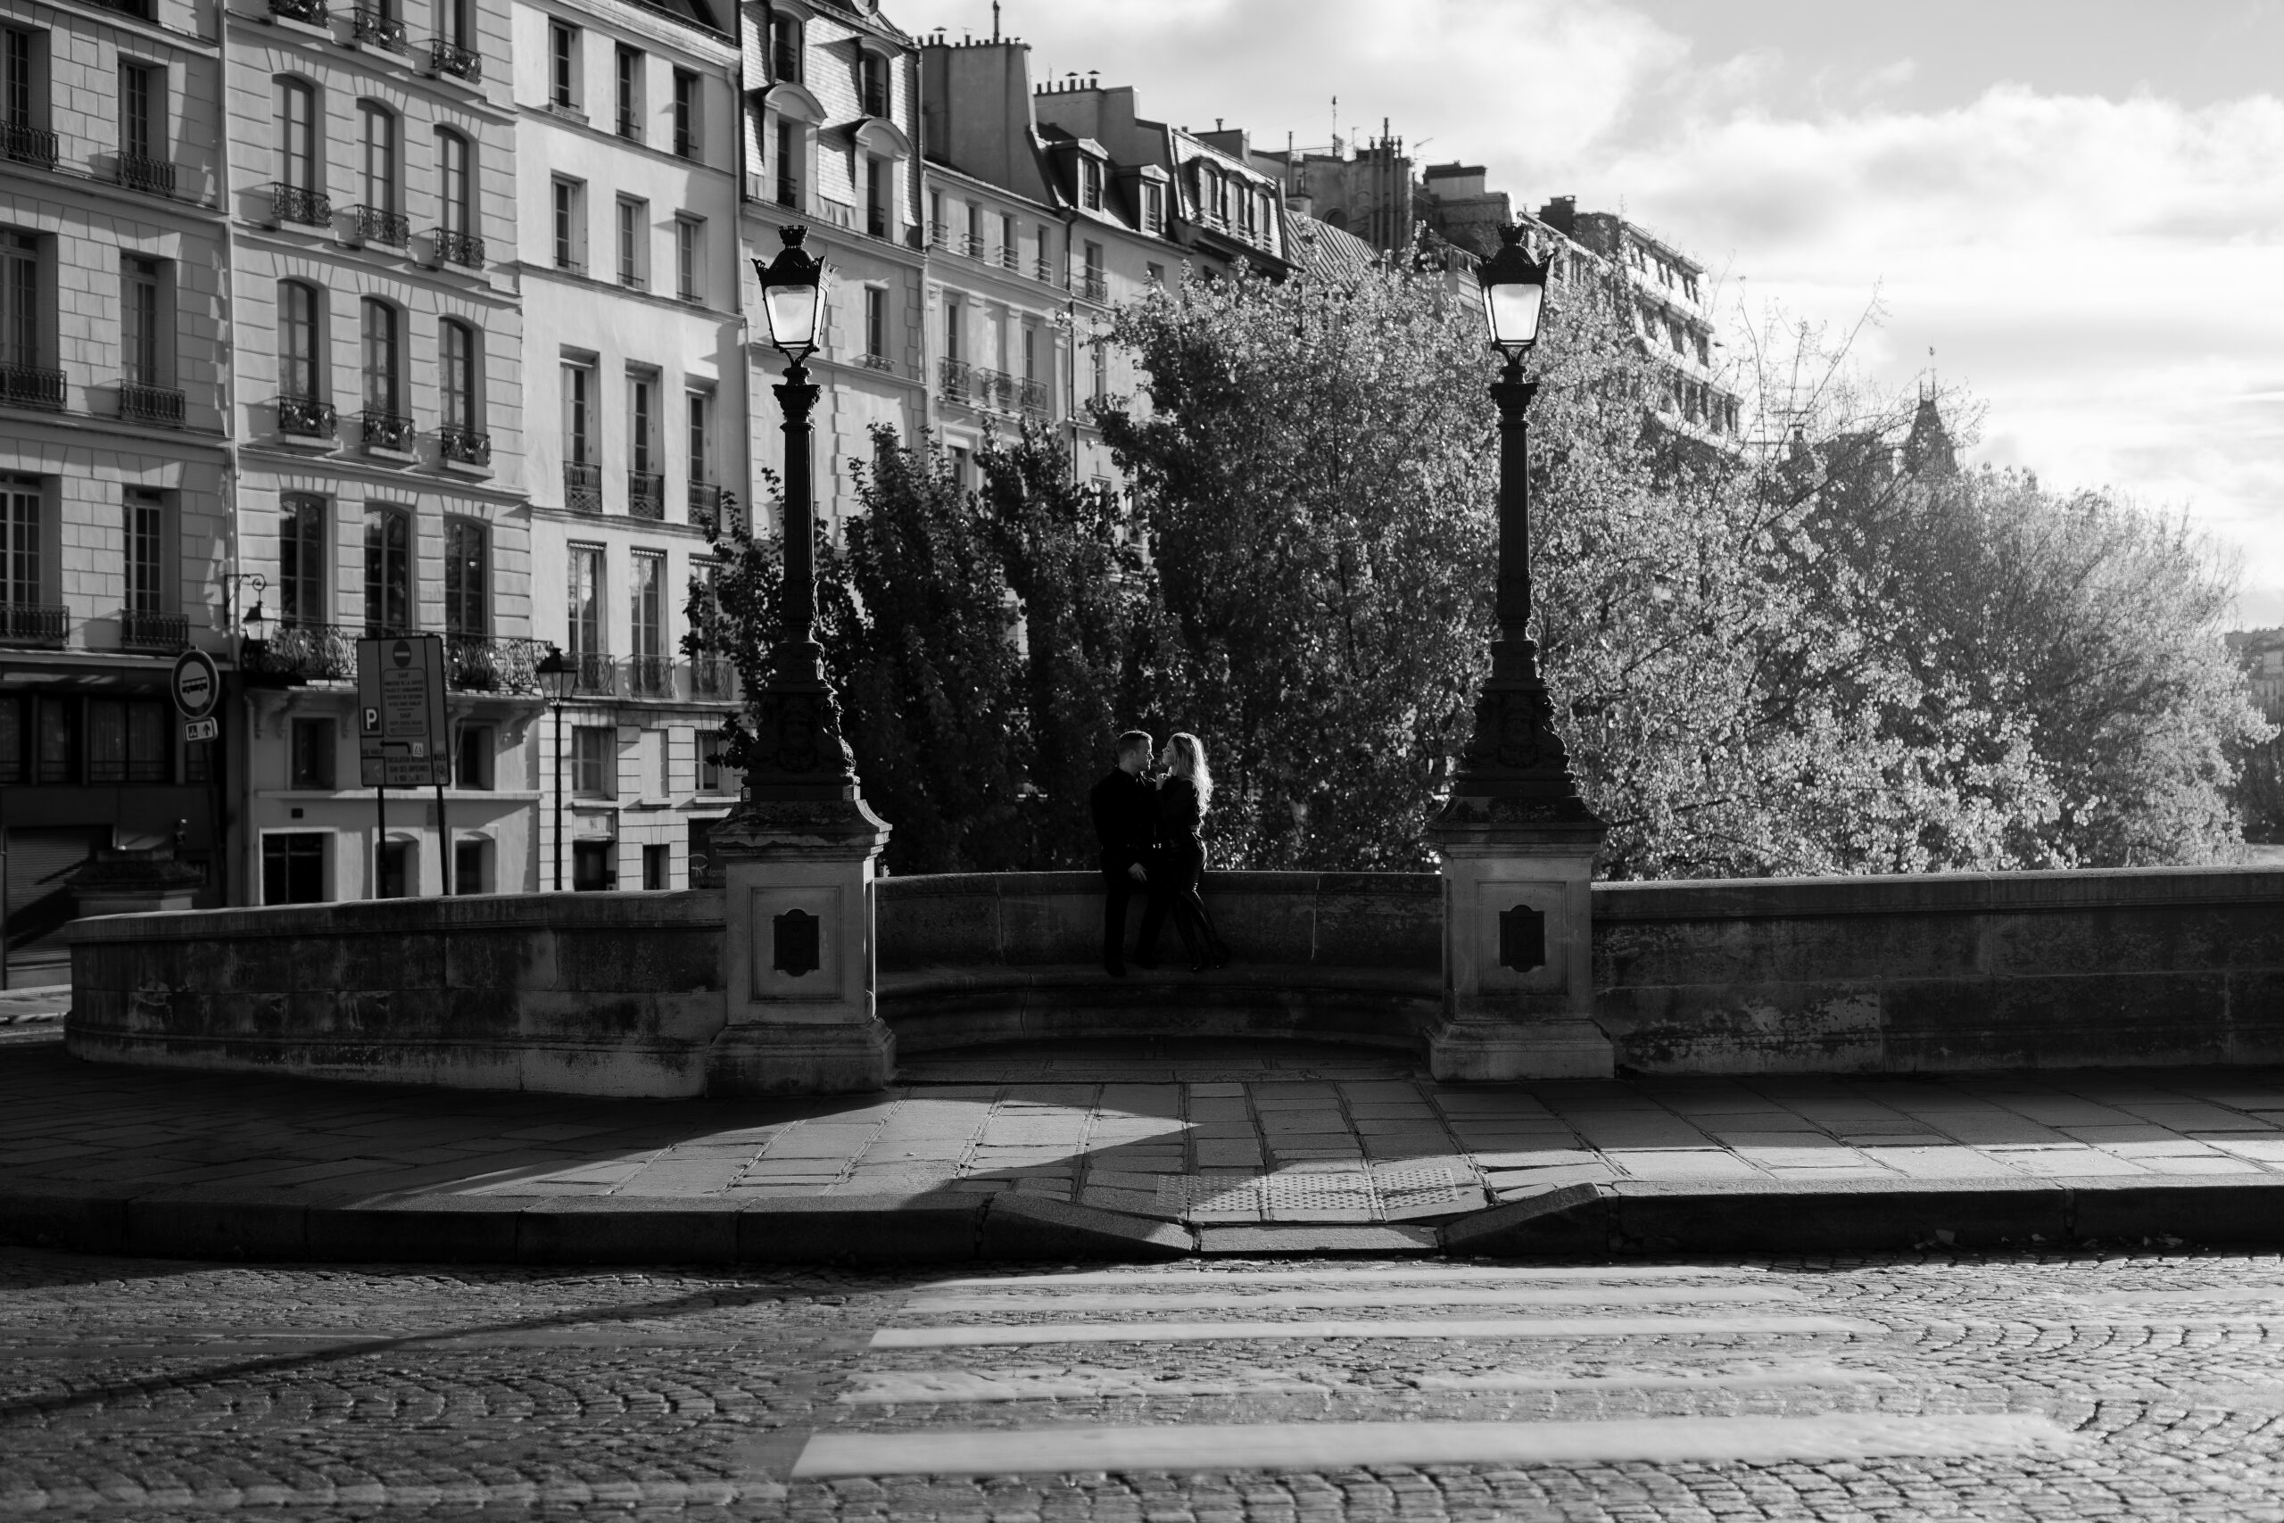
<svg viewBox="0 0 2284 1523">
<path fill-rule="evenodd" d="M 82 920 L 75 1057 L 459 1089 L 703 1094 L 722 897 L 502 895 Z"/>
</svg>

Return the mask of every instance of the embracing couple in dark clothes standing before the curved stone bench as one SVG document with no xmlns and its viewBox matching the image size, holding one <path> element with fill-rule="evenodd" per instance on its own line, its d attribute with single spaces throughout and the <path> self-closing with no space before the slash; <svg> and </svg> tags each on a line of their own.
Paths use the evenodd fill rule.
<svg viewBox="0 0 2284 1523">
<path fill-rule="evenodd" d="M 1229 966 L 1229 948 L 1197 893 L 1206 870 L 1197 827 L 1213 804 L 1206 744 L 1179 731 L 1156 767 L 1153 744 L 1147 731 L 1119 735 L 1119 765 L 1092 795 L 1094 836 L 1103 847 L 1103 970 L 1110 977 L 1126 977 L 1126 904 L 1137 893 L 1149 895 L 1135 934 L 1137 968 L 1156 966 L 1158 929 L 1167 916 L 1190 952 L 1192 973 Z"/>
</svg>

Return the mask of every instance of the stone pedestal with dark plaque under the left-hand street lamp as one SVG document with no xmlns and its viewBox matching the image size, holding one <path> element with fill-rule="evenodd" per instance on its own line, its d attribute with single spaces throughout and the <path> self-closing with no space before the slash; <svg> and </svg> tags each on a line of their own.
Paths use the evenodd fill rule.
<svg viewBox="0 0 2284 1523">
<path fill-rule="evenodd" d="M 859 797 L 745 804 L 713 829 L 729 1021 L 706 1094 L 852 1094 L 895 1073 L 895 1034 L 872 1009 L 886 840 Z"/>
</svg>

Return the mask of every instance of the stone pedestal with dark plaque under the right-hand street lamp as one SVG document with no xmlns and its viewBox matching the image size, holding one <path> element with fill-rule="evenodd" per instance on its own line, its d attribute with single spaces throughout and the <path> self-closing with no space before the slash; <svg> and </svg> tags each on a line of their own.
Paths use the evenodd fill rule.
<svg viewBox="0 0 2284 1523">
<path fill-rule="evenodd" d="M 1443 1021 L 1427 1066 L 1439 1080 L 1610 1078 L 1610 1039 L 1594 1025 L 1603 827 L 1571 806 L 1455 799 L 1437 820 Z"/>
</svg>

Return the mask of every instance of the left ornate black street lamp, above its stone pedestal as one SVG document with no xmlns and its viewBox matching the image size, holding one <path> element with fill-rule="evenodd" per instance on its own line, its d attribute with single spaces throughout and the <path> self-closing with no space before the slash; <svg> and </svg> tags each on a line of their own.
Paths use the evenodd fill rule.
<svg viewBox="0 0 2284 1523">
<path fill-rule="evenodd" d="M 825 263 L 802 247 L 804 226 L 779 228 L 786 247 L 767 265 L 754 260 L 770 343 L 786 356 L 774 386 L 786 411 L 786 585 L 779 601 L 770 680 L 754 694 L 754 767 L 747 797 L 756 804 L 856 799 L 856 758 L 841 738 L 841 706 L 825 683 L 818 644 L 818 521 L 811 484 L 811 422 L 818 388 L 809 356 L 818 352 Z"/>
</svg>

